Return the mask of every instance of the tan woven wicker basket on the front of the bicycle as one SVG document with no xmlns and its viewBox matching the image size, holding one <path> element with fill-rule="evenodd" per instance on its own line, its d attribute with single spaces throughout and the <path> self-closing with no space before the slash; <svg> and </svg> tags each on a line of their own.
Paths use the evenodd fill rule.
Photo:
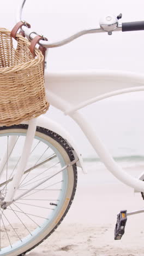
<svg viewBox="0 0 144 256">
<path fill-rule="evenodd" d="M 44 89 L 44 56 L 16 34 L 16 50 L 10 31 L 0 28 L 0 126 L 20 124 L 46 112 L 49 103 Z"/>
</svg>

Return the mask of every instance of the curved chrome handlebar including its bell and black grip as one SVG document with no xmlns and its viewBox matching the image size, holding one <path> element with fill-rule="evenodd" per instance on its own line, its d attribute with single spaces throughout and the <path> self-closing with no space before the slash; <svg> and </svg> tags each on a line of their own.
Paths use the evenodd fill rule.
<svg viewBox="0 0 144 256">
<path fill-rule="evenodd" d="M 23 6 L 25 5 L 26 0 L 21 0 L 21 4 L 19 9 L 17 10 L 16 22 L 21 21 Z M 144 30 L 144 21 L 136 21 L 136 22 L 124 22 L 119 24 L 118 20 L 122 18 L 122 14 L 119 14 L 117 17 L 114 15 L 108 15 L 104 18 L 100 19 L 100 26 L 97 28 L 91 28 L 89 30 L 82 30 L 73 34 L 72 36 L 65 38 L 64 40 L 58 42 L 49 43 L 45 40 L 40 40 L 39 44 L 44 46 L 45 48 L 54 48 L 59 47 L 65 44 L 70 43 L 76 38 L 83 36 L 84 34 L 92 34 L 92 33 L 101 33 L 106 32 L 109 35 L 114 31 L 136 31 L 136 30 Z M 32 40 L 38 34 L 34 32 L 31 28 L 26 26 L 22 26 L 22 30 L 25 32 L 25 36 Z"/>
</svg>

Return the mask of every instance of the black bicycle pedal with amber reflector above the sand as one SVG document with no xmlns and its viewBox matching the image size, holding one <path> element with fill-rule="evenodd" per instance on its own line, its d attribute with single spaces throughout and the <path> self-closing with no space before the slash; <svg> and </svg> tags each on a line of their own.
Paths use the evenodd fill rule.
<svg viewBox="0 0 144 256">
<path fill-rule="evenodd" d="M 121 211 L 117 215 L 117 223 L 115 228 L 115 240 L 120 240 L 124 234 L 124 228 L 127 222 L 127 211 Z"/>
</svg>

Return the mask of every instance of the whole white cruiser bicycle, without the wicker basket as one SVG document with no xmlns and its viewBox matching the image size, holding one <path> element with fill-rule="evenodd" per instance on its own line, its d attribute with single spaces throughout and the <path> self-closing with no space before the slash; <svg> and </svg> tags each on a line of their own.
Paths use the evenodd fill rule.
<svg viewBox="0 0 144 256">
<path fill-rule="evenodd" d="M 26 0 L 21 1 L 17 22 L 21 20 L 25 2 Z M 98 28 L 80 31 L 61 42 L 49 43 L 40 40 L 39 44 L 45 48 L 55 48 L 70 43 L 84 34 L 105 32 L 111 35 L 115 31 L 144 30 L 144 21 L 119 24 L 121 18 L 122 14 L 117 17 L 106 16 L 101 19 Z M 25 25 L 22 26 L 22 30 L 29 40 L 37 36 L 37 33 Z M 74 80 L 77 81 L 80 89 L 85 85 L 85 90 L 81 90 L 81 101 L 73 91 Z M 97 88 L 94 86 L 97 80 L 104 84 L 105 80 L 109 80 L 109 86 Z M 92 90 L 89 90 L 89 81 Z M 117 85 L 115 91 L 111 86 L 112 81 Z M 120 83 L 125 82 L 127 88 L 121 89 Z M 134 82 L 139 86 L 135 87 Z M 81 127 L 107 169 L 120 181 L 141 192 L 142 196 L 144 174 L 136 179 L 124 172 L 112 159 L 79 109 L 111 96 L 143 91 L 143 83 L 143 75 L 130 72 L 98 71 L 85 75 L 83 73 L 49 75 L 45 72 L 45 86 L 50 104 L 69 115 Z M 74 199 L 77 167 L 81 167 L 84 173 L 85 170 L 82 156 L 73 138 L 61 125 L 47 117 L 41 116 L 20 125 L 2 126 L 0 134 L 1 145 L 5 146 L 5 149 L 1 147 L 3 156 L 0 163 L 0 225 L 3 231 L 3 235 L 0 231 L 0 255 L 24 255 L 50 236 L 62 222 Z M 144 210 L 131 213 L 121 211 L 118 214 L 115 239 L 121 239 L 124 234 L 127 216 L 140 212 Z M 16 222 L 20 223 L 19 226 Z M 23 233 L 21 237 L 23 228 L 25 234 Z"/>
</svg>

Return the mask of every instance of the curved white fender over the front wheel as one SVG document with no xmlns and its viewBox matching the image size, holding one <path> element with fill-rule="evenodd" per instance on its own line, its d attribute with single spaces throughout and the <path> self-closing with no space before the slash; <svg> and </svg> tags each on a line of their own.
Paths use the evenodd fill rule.
<svg viewBox="0 0 144 256">
<path fill-rule="evenodd" d="M 28 124 L 27 121 L 22 123 Z M 68 131 L 65 130 L 64 127 L 62 127 L 62 125 L 58 124 L 56 121 L 53 121 L 50 118 L 41 115 L 37 118 L 37 126 L 44 127 L 45 129 L 49 129 L 53 132 L 58 133 L 58 135 L 62 136 L 68 142 L 69 146 L 74 149 L 73 153 L 79 159 L 79 161 L 76 162 L 77 166 L 82 168 L 83 173 L 87 173 L 87 171 L 85 171 L 85 168 L 83 167 L 82 155 L 77 149 L 77 146 L 74 143 L 74 139 L 70 136 Z"/>
</svg>

